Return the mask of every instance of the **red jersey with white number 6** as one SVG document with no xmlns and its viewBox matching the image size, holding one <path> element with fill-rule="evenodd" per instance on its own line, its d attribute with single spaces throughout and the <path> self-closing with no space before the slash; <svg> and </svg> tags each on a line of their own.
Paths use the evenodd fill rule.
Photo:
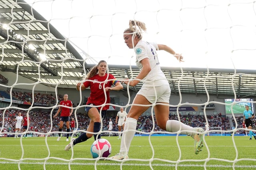
<svg viewBox="0 0 256 170">
<path fill-rule="evenodd" d="M 88 80 L 93 80 L 93 81 L 84 82 L 84 86 L 86 88 L 90 87 L 90 90 L 91 90 L 90 97 L 88 98 L 86 104 L 94 104 L 95 106 L 99 106 L 105 103 L 104 88 L 111 87 L 113 84 L 115 85 L 116 82 L 118 82 L 112 74 L 105 74 L 105 76 L 99 76 L 98 74 L 96 74 L 95 76 L 92 76 Z M 106 81 L 106 80 L 110 80 L 110 81 Z M 108 104 L 110 103 L 109 91 L 106 92 L 106 97 L 107 97 L 106 104 Z M 102 108 L 102 110 L 107 110 L 108 108 L 109 108 L 109 105 L 106 105 Z"/>
</svg>

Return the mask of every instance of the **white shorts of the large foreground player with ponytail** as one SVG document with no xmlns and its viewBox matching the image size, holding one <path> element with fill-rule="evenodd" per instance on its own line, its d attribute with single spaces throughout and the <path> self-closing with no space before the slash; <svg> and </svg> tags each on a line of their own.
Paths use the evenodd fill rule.
<svg viewBox="0 0 256 170">
<path fill-rule="evenodd" d="M 157 87 L 142 86 L 137 94 L 144 96 L 151 104 L 158 102 L 169 103 L 171 89 L 169 85 Z"/>
</svg>

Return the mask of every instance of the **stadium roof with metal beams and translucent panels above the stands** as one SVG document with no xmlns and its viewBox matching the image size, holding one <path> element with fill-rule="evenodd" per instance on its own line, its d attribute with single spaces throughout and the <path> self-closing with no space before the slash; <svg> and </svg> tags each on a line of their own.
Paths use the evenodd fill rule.
<svg viewBox="0 0 256 170">
<path fill-rule="evenodd" d="M 45 82 L 73 86 L 94 66 L 87 64 L 76 49 L 48 21 L 23 0 L 0 0 L 0 70 Z M 121 61 L 120 61 L 121 62 Z M 84 67 L 83 67 L 84 66 Z M 118 79 L 134 78 L 139 70 L 130 65 L 109 65 Z M 214 68 L 162 67 L 172 94 L 237 98 L 256 95 L 256 71 Z M 130 87 L 137 91 L 142 83 Z"/>
</svg>

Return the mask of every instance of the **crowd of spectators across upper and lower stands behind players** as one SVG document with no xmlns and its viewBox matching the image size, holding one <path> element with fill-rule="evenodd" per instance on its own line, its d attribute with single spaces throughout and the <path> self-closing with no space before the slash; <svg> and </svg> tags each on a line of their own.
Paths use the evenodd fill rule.
<svg viewBox="0 0 256 170">
<path fill-rule="evenodd" d="M 8 90 L 10 93 L 10 90 Z M 21 100 L 23 102 L 31 102 L 34 100 L 34 103 L 43 103 L 43 104 L 56 104 L 56 96 L 49 94 L 49 93 L 40 93 L 35 92 L 34 96 L 30 92 L 19 92 L 12 90 L 12 96 L 17 98 L 18 100 Z M 58 101 L 61 101 L 63 97 L 61 95 L 58 95 Z M 22 112 L 23 117 L 26 116 L 25 111 Z M 5 132 L 13 132 L 15 127 L 15 118 L 18 111 L 16 110 L 6 110 L 3 117 L 3 111 L 0 110 L 0 128 L 2 127 L 2 123 L 4 122 L 4 129 Z M 34 131 L 36 133 L 49 133 L 53 131 L 58 131 L 58 119 L 52 119 L 52 125 L 51 125 L 51 119 L 50 115 L 53 115 L 54 113 L 50 113 L 48 111 L 30 111 L 30 129 L 29 131 Z M 87 126 L 89 125 L 90 119 L 84 114 L 84 113 L 77 113 L 76 118 L 78 120 L 78 130 L 86 130 Z M 3 121 L 4 118 L 4 121 Z M 103 123 L 103 130 L 107 130 L 108 121 L 109 118 L 112 119 L 113 122 L 115 122 L 115 117 L 105 117 L 102 121 Z M 189 125 L 191 127 L 205 127 L 206 119 L 204 115 L 179 115 L 180 121 L 186 125 Z M 170 120 L 179 120 L 178 115 L 169 115 Z M 223 117 L 221 114 L 219 115 L 207 115 L 206 116 L 207 121 L 209 123 L 210 127 L 221 127 L 222 130 L 230 130 L 230 123 L 228 117 Z M 154 123 L 153 123 L 154 119 Z M 157 125 L 155 116 L 145 116 L 141 115 L 138 119 L 137 124 L 137 130 L 142 132 L 157 132 L 157 131 L 163 131 L 160 129 Z M 243 117 L 236 117 L 238 128 L 242 128 L 242 121 Z M 235 121 L 232 117 L 233 124 L 235 126 Z M 153 128 L 154 124 L 154 129 Z M 253 129 L 255 128 L 255 125 L 253 125 Z M 64 129 L 65 131 L 65 129 Z M 118 131 L 118 126 L 114 124 L 113 131 Z M 240 133 L 240 131 L 238 131 Z M 241 131 L 242 133 L 242 131 Z"/>
</svg>

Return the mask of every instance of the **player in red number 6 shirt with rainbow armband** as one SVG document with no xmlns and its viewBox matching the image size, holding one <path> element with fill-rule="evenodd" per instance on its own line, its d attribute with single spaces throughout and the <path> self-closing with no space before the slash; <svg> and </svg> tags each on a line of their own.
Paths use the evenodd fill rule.
<svg viewBox="0 0 256 170">
<path fill-rule="evenodd" d="M 73 138 L 70 144 L 65 147 L 65 150 L 69 150 L 77 143 L 86 141 L 93 135 L 94 140 L 100 138 L 100 133 L 98 133 L 101 126 L 100 122 L 102 121 L 100 118 L 106 115 L 106 111 L 109 108 L 110 91 L 123 89 L 121 82 L 107 72 L 107 63 L 104 60 L 92 67 L 84 82 L 78 82 L 76 84 L 78 91 L 85 90 L 88 87 L 90 87 L 91 93 L 88 97 L 85 109 L 87 116 L 90 118 L 90 123 L 87 128 L 89 133 L 82 133 L 78 138 Z"/>
</svg>

